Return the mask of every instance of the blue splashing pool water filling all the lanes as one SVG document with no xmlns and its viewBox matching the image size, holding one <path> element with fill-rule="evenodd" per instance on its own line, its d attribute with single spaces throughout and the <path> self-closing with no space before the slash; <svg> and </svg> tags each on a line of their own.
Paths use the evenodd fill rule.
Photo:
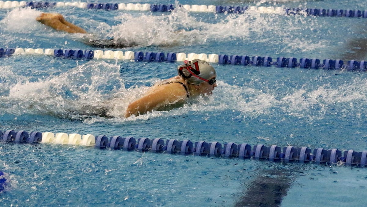
<svg viewBox="0 0 367 207">
<path fill-rule="evenodd" d="M 224 4 L 218 2 L 179 4 Z M 350 10 L 366 6 L 360 0 L 229 1 L 226 5 Z M 40 11 L 59 12 L 100 37 L 124 37 L 140 45 L 122 51 L 321 60 L 353 56 L 348 51 L 349 41 L 363 40 L 366 21 L 255 11 L 239 15 L 183 9 L 171 13 L 74 7 Z M 40 25 L 34 21 L 40 11 L 1 9 L 0 46 L 97 49 L 81 43 L 77 34 L 55 32 Z M 187 32 L 177 36 L 175 31 L 179 29 Z M 218 87 L 211 97 L 176 110 L 124 119 L 119 115 L 127 104 L 147 86 L 175 75 L 179 62 L 73 60 L 46 55 L 13 55 L 0 61 L 2 131 L 366 150 L 365 72 L 213 63 Z M 115 111 L 116 118 L 82 113 L 83 106 L 112 98 L 119 99 L 116 104 L 121 108 Z M 11 181 L 10 189 L 0 199 L 9 206 L 277 204 L 273 198 L 281 199 L 280 206 L 360 206 L 366 202 L 366 170 L 358 167 L 57 144 L 0 146 L 1 170 L 9 174 Z M 261 186 L 274 191 L 269 193 Z"/>
</svg>

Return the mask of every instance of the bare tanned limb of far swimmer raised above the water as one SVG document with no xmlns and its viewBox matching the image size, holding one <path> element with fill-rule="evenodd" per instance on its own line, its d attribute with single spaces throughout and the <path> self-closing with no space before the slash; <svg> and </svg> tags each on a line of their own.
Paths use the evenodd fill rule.
<svg viewBox="0 0 367 207">
<path fill-rule="evenodd" d="M 50 26 L 55 30 L 62 30 L 68 33 L 87 33 L 86 30 L 66 21 L 61 14 L 42 13 L 36 20 L 44 25 Z"/>
</svg>

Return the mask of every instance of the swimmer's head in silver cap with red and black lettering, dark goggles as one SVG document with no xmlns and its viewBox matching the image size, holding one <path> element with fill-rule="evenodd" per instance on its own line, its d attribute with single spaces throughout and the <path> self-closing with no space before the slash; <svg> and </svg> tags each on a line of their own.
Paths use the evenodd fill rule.
<svg viewBox="0 0 367 207">
<path fill-rule="evenodd" d="M 185 60 L 185 64 L 178 66 L 177 71 L 179 76 L 194 85 L 199 85 L 203 81 L 209 82 L 216 75 L 214 68 L 209 63 L 199 59 Z"/>
</svg>

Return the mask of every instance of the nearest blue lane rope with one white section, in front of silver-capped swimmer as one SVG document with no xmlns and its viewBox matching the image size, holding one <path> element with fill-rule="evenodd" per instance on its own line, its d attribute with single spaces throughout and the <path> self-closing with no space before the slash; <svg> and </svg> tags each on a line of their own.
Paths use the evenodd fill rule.
<svg viewBox="0 0 367 207">
<path fill-rule="evenodd" d="M 7 130 L 4 133 L 0 131 L 0 138 L 3 143 L 50 143 L 50 144 L 68 144 L 95 147 L 98 149 L 109 148 L 111 150 L 139 151 L 181 155 L 195 155 L 222 158 L 255 159 L 269 160 L 273 162 L 298 162 L 298 163 L 316 163 L 316 164 L 338 164 L 345 166 L 366 167 L 367 150 L 357 152 L 353 149 L 310 149 L 308 147 L 279 147 L 277 145 L 265 146 L 263 144 L 254 145 L 242 143 L 207 143 L 197 141 L 193 143 L 190 140 L 179 141 L 170 139 L 164 141 L 161 138 L 150 140 L 149 138 L 121 137 L 100 135 L 95 137 L 92 134 L 80 135 L 77 133 L 66 134 L 52 132 L 25 132 Z M 223 146 L 223 147 L 222 147 Z M 6 185 L 6 180 L 1 177 L 0 171 L 0 191 L 1 187 Z"/>
</svg>

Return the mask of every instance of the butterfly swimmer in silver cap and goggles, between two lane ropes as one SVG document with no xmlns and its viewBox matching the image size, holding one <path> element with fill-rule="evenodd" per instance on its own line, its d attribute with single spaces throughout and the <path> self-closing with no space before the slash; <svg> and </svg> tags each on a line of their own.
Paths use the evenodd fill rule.
<svg viewBox="0 0 367 207">
<path fill-rule="evenodd" d="M 143 97 L 130 103 L 125 117 L 182 107 L 189 99 L 211 95 L 217 87 L 215 69 L 204 60 L 185 61 L 177 71 L 177 76 L 152 86 Z"/>
</svg>

